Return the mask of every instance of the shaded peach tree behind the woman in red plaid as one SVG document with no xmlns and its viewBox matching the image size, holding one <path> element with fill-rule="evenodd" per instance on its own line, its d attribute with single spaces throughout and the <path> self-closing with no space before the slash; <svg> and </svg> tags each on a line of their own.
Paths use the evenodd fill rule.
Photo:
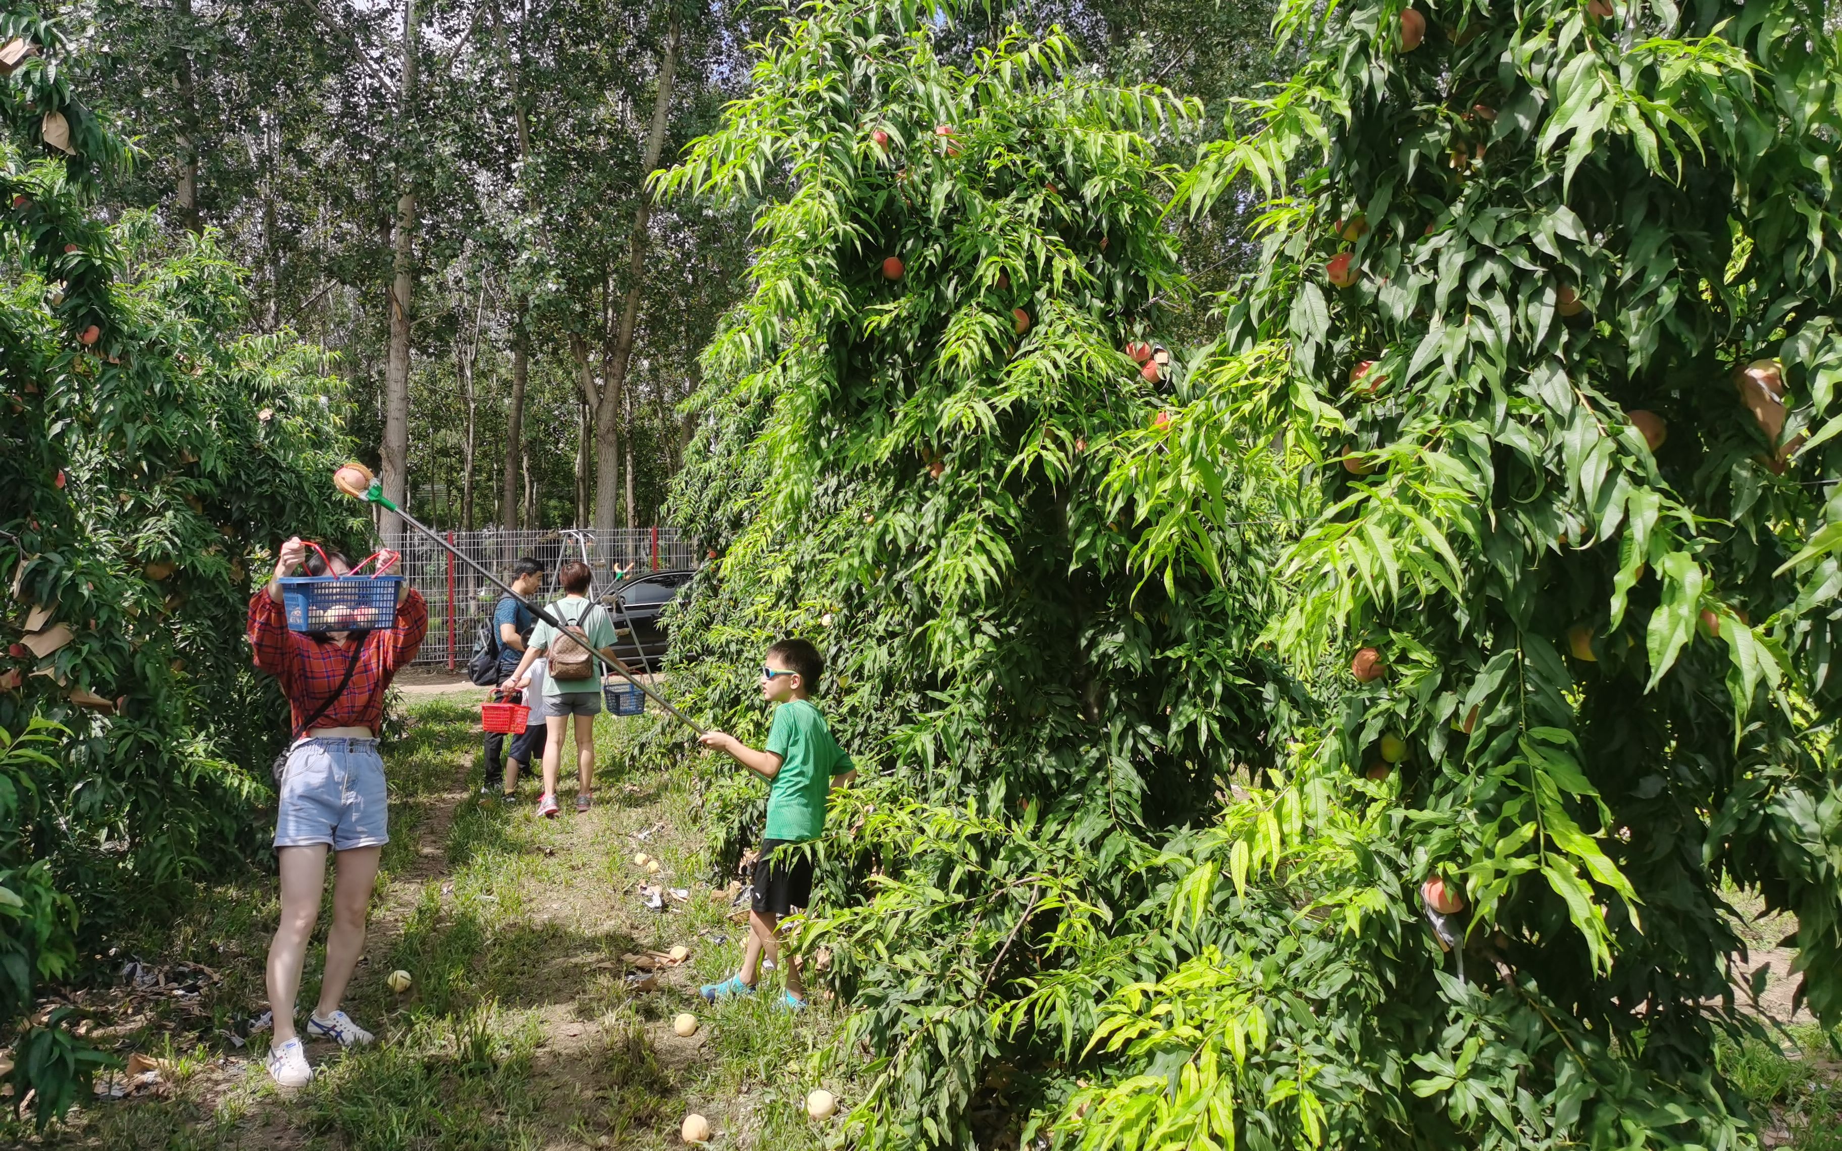
<svg viewBox="0 0 1842 1151">
<path fill-rule="evenodd" d="M 0 15 L 0 1031 L 81 950 L 182 880 L 262 856 L 260 772 L 284 705 L 249 669 L 243 611 L 274 541 L 361 523 L 337 383 L 287 337 L 238 328 L 243 273 L 206 236 L 98 219 L 129 160 L 68 83 L 76 48 Z M 15 48 L 17 52 L 17 48 Z M 344 501 L 341 501 L 343 505 Z M 63 1112 L 96 1053 L 28 1029 L 13 1099 Z"/>
</svg>

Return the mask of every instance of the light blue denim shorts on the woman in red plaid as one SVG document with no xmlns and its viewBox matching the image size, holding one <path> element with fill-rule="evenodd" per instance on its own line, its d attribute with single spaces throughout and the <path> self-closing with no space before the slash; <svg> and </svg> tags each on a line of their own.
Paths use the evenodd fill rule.
<svg viewBox="0 0 1842 1151">
<path fill-rule="evenodd" d="M 391 842 L 391 794 L 374 738 L 304 738 L 287 753 L 274 845 L 333 851 Z"/>
</svg>

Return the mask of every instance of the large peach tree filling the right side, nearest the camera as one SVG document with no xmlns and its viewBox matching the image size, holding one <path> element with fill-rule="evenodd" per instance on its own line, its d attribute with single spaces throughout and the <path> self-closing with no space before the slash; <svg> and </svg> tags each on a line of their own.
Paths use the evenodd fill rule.
<svg viewBox="0 0 1842 1151">
<path fill-rule="evenodd" d="M 1225 455 L 1315 460 L 1267 635 L 1341 691 L 1164 864 L 1172 926 L 1219 926 L 1111 993 L 1061 1131 L 1733 1145 L 1728 891 L 1842 1020 L 1836 41 L 1800 4 L 1275 26 L 1310 61 L 1183 188 L 1267 199 L 1199 387 Z"/>
</svg>

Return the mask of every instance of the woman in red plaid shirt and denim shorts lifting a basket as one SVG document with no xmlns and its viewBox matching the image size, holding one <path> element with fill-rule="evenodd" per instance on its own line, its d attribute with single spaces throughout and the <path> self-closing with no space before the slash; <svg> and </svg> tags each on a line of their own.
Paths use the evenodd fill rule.
<svg viewBox="0 0 1842 1151">
<path fill-rule="evenodd" d="M 332 554 L 330 562 L 335 575 L 350 569 L 341 554 Z M 297 536 L 282 545 L 274 578 L 298 567 L 326 575 L 319 556 L 309 558 Z M 319 1006 L 308 1017 L 308 1035 L 343 1046 L 372 1041 L 370 1031 L 339 1009 L 339 1000 L 365 950 L 365 910 L 378 880 L 378 856 L 391 840 L 389 794 L 378 755 L 383 689 L 396 669 L 414 659 L 427 630 L 429 606 L 413 587 L 398 600 L 394 626 L 387 632 L 289 632 L 282 586 L 274 580 L 249 602 L 256 667 L 282 681 L 295 733 L 274 820 L 282 923 L 269 945 L 267 972 L 269 1009 L 274 1015 L 267 1068 L 282 1087 L 302 1087 L 313 1077 L 295 1035 L 295 993 L 300 989 L 308 937 L 321 917 L 328 847 L 335 869 L 333 930 L 326 936 L 326 972 Z M 302 731 L 308 724 L 311 729 Z"/>
</svg>

